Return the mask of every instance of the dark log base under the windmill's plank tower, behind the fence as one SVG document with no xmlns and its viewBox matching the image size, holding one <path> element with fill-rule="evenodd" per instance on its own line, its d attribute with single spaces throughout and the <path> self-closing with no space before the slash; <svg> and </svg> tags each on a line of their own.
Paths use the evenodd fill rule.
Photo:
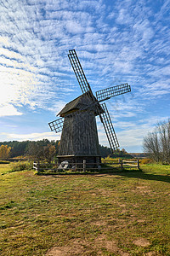
<svg viewBox="0 0 170 256">
<path fill-rule="evenodd" d="M 75 169 L 83 168 L 83 163 L 86 162 L 87 168 L 96 168 L 101 163 L 100 155 L 58 155 L 58 164 L 64 161 L 69 162 L 70 167 Z"/>
</svg>

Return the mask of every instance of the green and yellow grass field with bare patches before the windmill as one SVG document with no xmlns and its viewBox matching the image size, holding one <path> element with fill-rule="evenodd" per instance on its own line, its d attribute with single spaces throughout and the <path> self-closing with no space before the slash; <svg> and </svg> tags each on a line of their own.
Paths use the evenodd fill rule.
<svg viewBox="0 0 170 256">
<path fill-rule="evenodd" d="M 170 166 L 37 176 L 0 165 L 0 255 L 170 255 Z"/>
</svg>

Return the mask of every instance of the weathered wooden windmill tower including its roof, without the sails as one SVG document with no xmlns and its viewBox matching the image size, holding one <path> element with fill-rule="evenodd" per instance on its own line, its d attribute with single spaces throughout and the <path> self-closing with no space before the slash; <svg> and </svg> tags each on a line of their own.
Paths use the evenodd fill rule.
<svg viewBox="0 0 170 256">
<path fill-rule="evenodd" d="M 92 108 L 88 109 L 89 106 Z M 103 109 L 99 106 L 100 113 Z M 59 114 L 64 118 L 59 144 L 59 162 L 99 162 L 99 138 L 96 125 L 96 107 L 88 93 L 65 105 Z"/>
</svg>

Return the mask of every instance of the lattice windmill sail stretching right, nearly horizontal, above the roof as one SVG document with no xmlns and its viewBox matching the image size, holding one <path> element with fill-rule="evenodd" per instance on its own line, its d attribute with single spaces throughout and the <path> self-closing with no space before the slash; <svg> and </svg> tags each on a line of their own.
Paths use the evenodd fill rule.
<svg viewBox="0 0 170 256">
<path fill-rule="evenodd" d="M 110 99 L 111 97 L 122 95 L 131 91 L 130 85 L 120 84 L 113 87 L 106 88 L 104 90 L 96 91 L 96 97 L 99 102 L 104 102 L 105 100 Z"/>
</svg>

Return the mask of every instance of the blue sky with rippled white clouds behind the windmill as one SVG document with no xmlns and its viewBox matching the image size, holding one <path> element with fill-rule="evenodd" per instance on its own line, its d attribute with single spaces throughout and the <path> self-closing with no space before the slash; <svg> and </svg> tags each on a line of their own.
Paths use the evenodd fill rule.
<svg viewBox="0 0 170 256">
<path fill-rule="evenodd" d="M 48 122 L 82 94 L 69 49 L 94 93 L 131 85 L 105 102 L 120 148 L 143 152 L 144 136 L 169 118 L 170 0 L 2 0 L 0 17 L 1 142 L 59 140 Z"/>
</svg>

